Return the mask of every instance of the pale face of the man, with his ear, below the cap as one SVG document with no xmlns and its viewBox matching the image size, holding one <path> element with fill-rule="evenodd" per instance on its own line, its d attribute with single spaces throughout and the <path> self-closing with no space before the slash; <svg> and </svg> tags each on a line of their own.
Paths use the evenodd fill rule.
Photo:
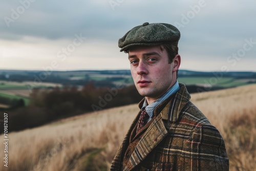
<svg viewBox="0 0 256 171">
<path fill-rule="evenodd" d="M 176 82 L 180 55 L 168 63 L 167 52 L 160 46 L 136 47 L 129 50 L 129 60 L 135 86 L 148 104 L 161 97 Z"/>
</svg>

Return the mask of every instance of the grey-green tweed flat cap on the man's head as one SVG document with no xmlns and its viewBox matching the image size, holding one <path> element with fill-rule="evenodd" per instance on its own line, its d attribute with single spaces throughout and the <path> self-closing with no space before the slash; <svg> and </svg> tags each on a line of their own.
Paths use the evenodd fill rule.
<svg viewBox="0 0 256 171">
<path fill-rule="evenodd" d="M 118 41 L 120 52 L 127 51 L 132 46 L 155 46 L 169 42 L 178 46 L 180 31 L 166 23 L 144 23 L 128 31 Z"/>
</svg>

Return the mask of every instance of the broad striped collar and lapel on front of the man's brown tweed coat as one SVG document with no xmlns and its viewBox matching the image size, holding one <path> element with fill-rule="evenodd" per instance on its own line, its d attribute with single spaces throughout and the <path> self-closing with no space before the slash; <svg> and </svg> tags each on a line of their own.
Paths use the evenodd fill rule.
<svg viewBox="0 0 256 171">
<path fill-rule="evenodd" d="M 144 160 L 168 134 L 170 127 L 167 126 L 167 122 L 176 122 L 178 120 L 181 110 L 190 99 L 185 85 L 179 83 L 179 86 L 180 90 L 178 92 L 157 106 L 154 114 L 158 115 L 142 136 L 123 170 L 131 170 Z M 143 100 L 141 102 L 143 103 Z"/>
</svg>

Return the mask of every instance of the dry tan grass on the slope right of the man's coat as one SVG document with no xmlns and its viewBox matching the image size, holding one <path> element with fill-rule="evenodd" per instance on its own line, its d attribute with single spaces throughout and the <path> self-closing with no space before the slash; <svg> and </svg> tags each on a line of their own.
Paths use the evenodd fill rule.
<svg viewBox="0 0 256 171">
<path fill-rule="evenodd" d="M 194 94 L 192 101 L 221 132 L 229 170 L 255 170 L 256 85 Z"/>
</svg>

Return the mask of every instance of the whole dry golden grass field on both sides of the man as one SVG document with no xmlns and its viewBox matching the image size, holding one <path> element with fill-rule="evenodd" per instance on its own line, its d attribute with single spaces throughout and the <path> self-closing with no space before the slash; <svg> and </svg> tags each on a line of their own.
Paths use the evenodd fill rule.
<svg viewBox="0 0 256 171">
<path fill-rule="evenodd" d="M 230 170 L 255 170 L 256 85 L 191 96 L 221 132 Z M 133 104 L 12 132 L 8 134 L 8 168 L 0 143 L 0 170 L 109 170 L 137 112 Z"/>
</svg>

